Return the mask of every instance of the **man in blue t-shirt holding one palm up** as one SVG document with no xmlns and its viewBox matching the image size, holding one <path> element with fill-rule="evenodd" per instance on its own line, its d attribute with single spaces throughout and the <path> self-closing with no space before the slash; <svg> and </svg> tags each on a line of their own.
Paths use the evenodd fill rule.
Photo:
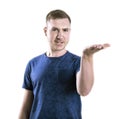
<svg viewBox="0 0 120 119">
<path fill-rule="evenodd" d="M 82 119 L 81 96 L 88 95 L 94 83 L 93 54 L 109 44 L 85 48 L 80 57 L 66 50 L 70 31 L 67 13 L 47 14 L 44 33 L 49 50 L 27 64 L 19 119 Z"/>
</svg>

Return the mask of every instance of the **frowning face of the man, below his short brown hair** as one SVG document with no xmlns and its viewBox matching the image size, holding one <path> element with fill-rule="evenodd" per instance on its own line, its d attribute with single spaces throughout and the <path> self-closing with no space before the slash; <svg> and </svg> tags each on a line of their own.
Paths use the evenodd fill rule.
<svg viewBox="0 0 120 119">
<path fill-rule="evenodd" d="M 51 19 L 44 29 L 52 51 L 64 50 L 70 37 L 70 22 L 67 18 Z"/>
</svg>

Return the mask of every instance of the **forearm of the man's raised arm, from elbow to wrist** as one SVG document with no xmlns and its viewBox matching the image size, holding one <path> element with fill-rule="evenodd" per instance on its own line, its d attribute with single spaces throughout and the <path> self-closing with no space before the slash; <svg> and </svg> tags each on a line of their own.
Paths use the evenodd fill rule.
<svg viewBox="0 0 120 119">
<path fill-rule="evenodd" d="M 93 56 L 83 55 L 80 66 L 80 72 L 77 75 L 77 91 L 80 95 L 86 96 L 94 83 Z"/>
</svg>

